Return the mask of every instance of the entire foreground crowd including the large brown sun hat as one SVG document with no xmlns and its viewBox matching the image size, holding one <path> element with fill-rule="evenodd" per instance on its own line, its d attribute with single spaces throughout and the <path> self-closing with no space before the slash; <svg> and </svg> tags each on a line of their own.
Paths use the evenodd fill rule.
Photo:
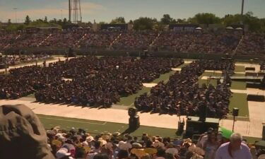
<svg viewBox="0 0 265 159">
<path fill-rule="evenodd" d="M 1 159 L 252 159 L 242 136 L 224 128 L 208 128 L 193 141 L 119 131 L 92 136 L 73 127 L 45 130 L 25 105 L 1 105 L 0 113 Z"/>
</svg>

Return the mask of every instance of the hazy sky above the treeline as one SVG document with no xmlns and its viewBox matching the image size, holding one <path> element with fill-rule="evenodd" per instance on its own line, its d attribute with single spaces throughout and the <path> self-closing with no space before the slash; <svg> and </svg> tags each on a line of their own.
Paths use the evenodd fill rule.
<svg viewBox="0 0 265 159">
<path fill-rule="evenodd" d="M 242 0 L 81 0 L 83 21 L 95 19 L 97 22 L 110 22 L 117 16 L 126 21 L 140 16 L 160 19 L 169 13 L 172 18 L 189 18 L 196 13 L 215 13 L 217 16 L 240 13 Z M 26 15 L 30 18 L 68 17 L 68 0 L 0 0 L 0 21 L 8 18 L 22 22 Z M 252 11 L 254 16 L 265 18 L 265 0 L 245 0 L 245 12 Z"/>
</svg>

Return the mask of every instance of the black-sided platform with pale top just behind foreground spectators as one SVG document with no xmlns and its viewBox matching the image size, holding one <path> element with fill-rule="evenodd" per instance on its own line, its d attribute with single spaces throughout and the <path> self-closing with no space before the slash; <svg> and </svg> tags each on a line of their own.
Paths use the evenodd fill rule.
<svg viewBox="0 0 265 159">
<path fill-rule="evenodd" d="M 186 138 L 192 138 L 194 134 L 203 134 L 209 128 L 218 129 L 219 119 L 206 118 L 205 122 L 199 121 L 199 117 L 189 117 L 186 124 Z"/>
</svg>

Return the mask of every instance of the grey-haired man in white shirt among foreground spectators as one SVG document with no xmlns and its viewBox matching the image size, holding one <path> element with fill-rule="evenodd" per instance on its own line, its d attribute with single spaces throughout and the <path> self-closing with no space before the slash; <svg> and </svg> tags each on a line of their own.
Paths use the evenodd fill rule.
<svg viewBox="0 0 265 159">
<path fill-rule="evenodd" d="M 245 143 L 242 143 L 241 134 L 234 133 L 230 142 L 223 143 L 216 152 L 215 159 L 252 159 L 252 154 Z"/>
</svg>

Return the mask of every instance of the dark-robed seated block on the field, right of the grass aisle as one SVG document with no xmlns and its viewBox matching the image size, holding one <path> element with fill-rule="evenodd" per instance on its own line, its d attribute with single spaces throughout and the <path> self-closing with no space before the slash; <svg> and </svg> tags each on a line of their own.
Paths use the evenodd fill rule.
<svg viewBox="0 0 265 159">
<path fill-rule="evenodd" d="M 234 69 L 230 61 L 194 61 L 184 66 L 182 71 L 170 76 L 167 83 L 161 81 L 151 89 L 151 94 L 144 93 L 136 98 L 134 105 L 139 111 L 158 112 L 162 114 L 180 114 L 197 116 L 206 107 L 207 117 L 222 118 L 228 114 L 231 92 L 229 76 L 218 81 L 217 86 L 211 84 L 199 87 L 199 76 L 206 69 L 220 70 Z"/>
</svg>

